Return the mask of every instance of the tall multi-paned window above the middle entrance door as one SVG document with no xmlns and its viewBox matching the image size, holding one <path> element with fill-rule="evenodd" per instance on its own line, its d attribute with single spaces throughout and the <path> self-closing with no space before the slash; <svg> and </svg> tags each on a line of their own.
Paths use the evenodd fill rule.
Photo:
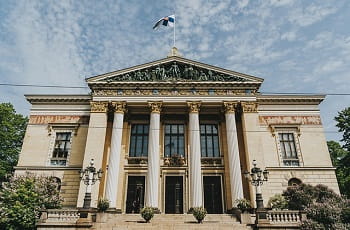
<svg viewBox="0 0 350 230">
<path fill-rule="evenodd" d="M 165 125 L 164 155 L 165 157 L 185 155 L 185 135 L 183 124 Z"/>
</svg>

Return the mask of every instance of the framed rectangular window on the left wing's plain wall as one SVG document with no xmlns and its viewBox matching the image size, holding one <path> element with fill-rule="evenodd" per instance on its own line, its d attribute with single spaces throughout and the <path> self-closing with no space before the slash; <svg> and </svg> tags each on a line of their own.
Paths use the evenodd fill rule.
<svg viewBox="0 0 350 230">
<path fill-rule="evenodd" d="M 71 149 L 71 132 L 57 132 L 51 157 L 51 165 L 66 166 Z"/>
</svg>

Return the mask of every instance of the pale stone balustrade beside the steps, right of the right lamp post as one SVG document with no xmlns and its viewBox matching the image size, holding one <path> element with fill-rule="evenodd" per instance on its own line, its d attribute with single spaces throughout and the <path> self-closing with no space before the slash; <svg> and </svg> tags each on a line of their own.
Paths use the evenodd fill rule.
<svg viewBox="0 0 350 230">
<path fill-rule="evenodd" d="M 295 224 L 305 220 L 306 215 L 303 212 L 295 210 L 271 210 L 267 212 L 267 219 L 271 224 Z"/>
</svg>

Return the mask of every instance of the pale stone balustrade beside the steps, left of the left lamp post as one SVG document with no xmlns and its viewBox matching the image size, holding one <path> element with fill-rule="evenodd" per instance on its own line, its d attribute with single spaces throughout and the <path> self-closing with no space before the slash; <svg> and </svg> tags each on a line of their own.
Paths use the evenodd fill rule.
<svg viewBox="0 0 350 230">
<path fill-rule="evenodd" d="M 77 209 L 48 209 L 43 211 L 40 222 L 46 223 L 75 223 L 79 219 Z"/>
</svg>

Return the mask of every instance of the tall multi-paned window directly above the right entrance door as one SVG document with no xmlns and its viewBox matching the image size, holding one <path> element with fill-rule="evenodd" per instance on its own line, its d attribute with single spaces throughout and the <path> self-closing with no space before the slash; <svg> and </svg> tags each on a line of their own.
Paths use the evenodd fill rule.
<svg viewBox="0 0 350 230">
<path fill-rule="evenodd" d="M 200 125 L 202 157 L 220 157 L 218 126 Z"/>
</svg>

